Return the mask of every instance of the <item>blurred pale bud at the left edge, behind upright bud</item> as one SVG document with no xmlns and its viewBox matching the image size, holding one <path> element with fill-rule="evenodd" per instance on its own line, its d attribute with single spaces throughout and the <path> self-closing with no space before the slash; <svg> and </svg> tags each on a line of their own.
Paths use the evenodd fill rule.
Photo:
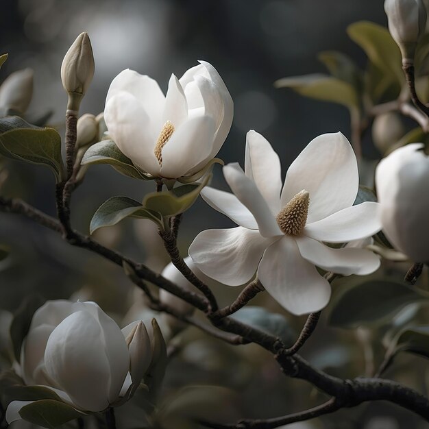
<svg viewBox="0 0 429 429">
<path fill-rule="evenodd" d="M 0 86 L 0 108 L 25 113 L 33 97 L 33 75 L 32 69 L 9 75 Z"/>
</svg>

